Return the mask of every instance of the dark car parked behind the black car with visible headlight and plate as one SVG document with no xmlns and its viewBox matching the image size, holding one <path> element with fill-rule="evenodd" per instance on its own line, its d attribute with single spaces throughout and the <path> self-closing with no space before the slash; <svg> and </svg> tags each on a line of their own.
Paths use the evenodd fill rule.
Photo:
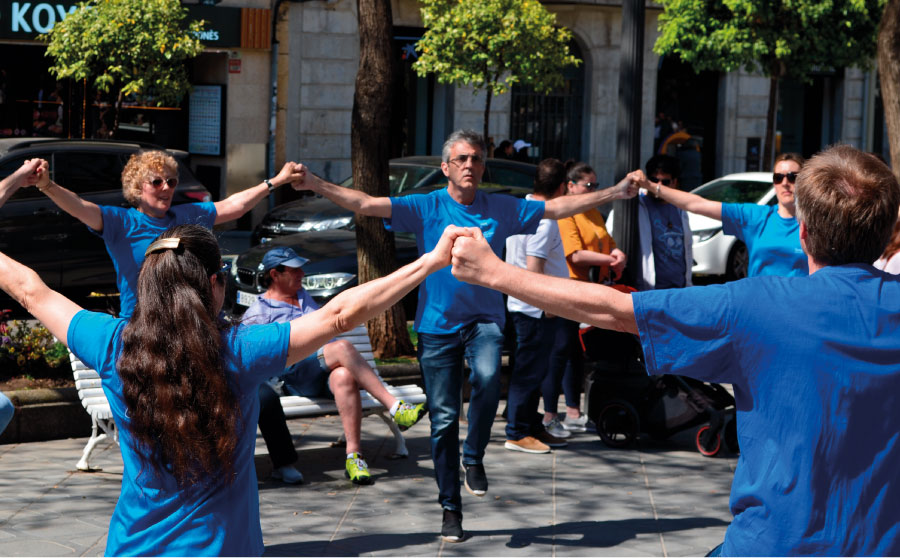
<svg viewBox="0 0 900 558">
<path fill-rule="evenodd" d="M 488 159 L 481 188 L 524 197 L 534 186 L 535 165 Z M 389 181 L 392 196 L 424 194 L 447 185 L 441 172 L 440 157 L 402 157 L 391 159 Z M 352 187 L 353 178 L 341 182 Z M 353 213 L 321 196 L 307 196 L 282 204 L 263 217 L 254 229 L 251 243 L 256 245 L 288 234 L 328 229 L 352 229 Z"/>
</svg>

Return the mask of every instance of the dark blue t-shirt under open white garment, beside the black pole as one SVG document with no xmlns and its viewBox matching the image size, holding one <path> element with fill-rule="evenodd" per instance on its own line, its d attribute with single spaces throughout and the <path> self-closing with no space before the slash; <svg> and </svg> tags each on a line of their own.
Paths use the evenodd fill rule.
<svg viewBox="0 0 900 558">
<path fill-rule="evenodd" d="M 674 205 L 644 198 L 647 215 L 650 217 L 652 235 L 653 266 L 656 273 L 655 288 L 681 288 L 685 283 L 684 227 L 681 211 Z"/>
</svg>

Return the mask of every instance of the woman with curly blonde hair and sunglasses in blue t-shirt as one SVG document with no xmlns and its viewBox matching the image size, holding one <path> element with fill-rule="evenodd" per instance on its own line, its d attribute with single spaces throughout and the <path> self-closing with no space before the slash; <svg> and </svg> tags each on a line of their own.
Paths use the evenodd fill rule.
<svg viewBox="0 0 900 558">
<path fill-rule="evenodd" d="M 178 186 L 178 163 L 165 151 L 140 151 L 128 159 L 122 170 L 122 192 L 133 207 L 97 205 L 50 180 L 49 166 L 41 162 L 37 188 L 63 211 L 75 217 L 106 243 L 116 269 L 119 288 L 119 315 L 130 317 L 134 311 L 137 275 L 144 261 L 144 250 L 169 227 L 197 224 L 213 225 L 238 219 L 276 187 L 299 181 L 302 174 L 294 163 L 285 163 L 271 180 L 215 203 L 189 203 L 172 206 Z"/>
</svg>

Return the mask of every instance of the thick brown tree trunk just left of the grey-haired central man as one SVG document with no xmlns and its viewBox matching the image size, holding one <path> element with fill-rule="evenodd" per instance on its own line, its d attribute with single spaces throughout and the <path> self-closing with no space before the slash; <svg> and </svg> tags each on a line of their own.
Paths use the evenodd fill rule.
<svg viewBox="0 0 900 558">
<path fill-rule="evenodd" d="M 359 69 L 350 130 L 353 184 L 373 196 L 390 194 L 391 4 L 389 0 L 358 0 Z M 383 277 L 397 269 L 394 234 L 381 219 L 356 216 L 359 282 Z M 379 358 L 413 354 L 400 304 L 369 321 L 372 349 Z"/>
</svg>

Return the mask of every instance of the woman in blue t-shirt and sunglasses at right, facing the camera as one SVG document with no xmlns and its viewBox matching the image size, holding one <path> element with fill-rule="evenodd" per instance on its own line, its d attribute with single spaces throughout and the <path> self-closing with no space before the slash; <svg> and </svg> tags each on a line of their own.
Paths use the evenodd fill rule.
<svg viewBox="0 0 900 558">
<path fill-rule="evenodd" d="M 722 221 L 722 231 L 747 245 L 747 276 L 809 275 L 806 254 L 800 247 L 800 225 L 794 203 L 794 182 L 804 159 L 797 153 L 782 153 L 775 159 L 772 182 L 776 206 L 754 203 L 722 203 L 648 180 L 643 188 L 672 205 Z"/>
</svg>

